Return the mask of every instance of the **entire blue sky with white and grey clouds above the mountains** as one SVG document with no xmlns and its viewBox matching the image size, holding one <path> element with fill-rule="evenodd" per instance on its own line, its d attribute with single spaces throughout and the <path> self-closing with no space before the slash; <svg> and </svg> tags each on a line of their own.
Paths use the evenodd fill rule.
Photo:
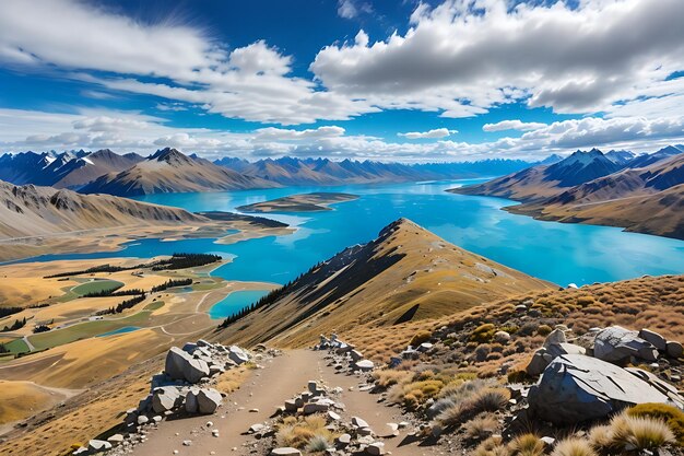
<svg viewBox="0 0 684 456">
<path fill-rule="evenodd" d="M 540 160 L 684 142 L 682 0 L 2 0 L 0 152 Z"/>
</svg>

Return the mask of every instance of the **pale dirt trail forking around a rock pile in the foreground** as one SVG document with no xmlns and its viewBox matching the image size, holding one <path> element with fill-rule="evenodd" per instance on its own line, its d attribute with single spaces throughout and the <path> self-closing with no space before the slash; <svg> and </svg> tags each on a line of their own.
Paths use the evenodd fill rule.
<svg viewBox="0 0 684 456">
<path fill-rule="evenodd" d="M 342 387 L 344 391 L 339 400 L 346 406 L 345 414 L 363 418 L 378 433 L 384 431 L 385 423 L 401 421 L 398 409 L 376 404 L 375 396 L 358 391 L 359 378 L 335 374 L 332 367 L 327 366 L 320 352 L 286 351 L 263 365 L 264 369 L 252 372 L 240 389 L 228 395 L 216 414 L 163 422 L 157 430 L 148 434 L 146 442 L 135 446 L 133 454 L 167 456 L 178 451 L 181 456 L 210 455 L 211 452 L 216 455 L 225 455 L 227 452 L 248 455 L 250 448 L 243 444 L 251 442 L 253 437 L 243 433 L 251 424 L 267 421 L 286 399 L 305 390 L 309 379 L 322 379 L 329 387 Z M 354 389 L 350 391 L 350 387 Z M 259 411 L 250 412 L 250 409 Z M 208 421 L 214 423 L 212 429 L 219 430 L 220 437 L 213 437 L 207 430 Z M 200 432 L 193 433 L 202 428 Z M 421 448 L 415 444 L 399 446 L 401 439 L 385 440 L 386 449 L 398 456 L 433 454 L 431 448 Z M 191 440 L 191 446 L 182 446 L 185 440 Z"/>
</svg>

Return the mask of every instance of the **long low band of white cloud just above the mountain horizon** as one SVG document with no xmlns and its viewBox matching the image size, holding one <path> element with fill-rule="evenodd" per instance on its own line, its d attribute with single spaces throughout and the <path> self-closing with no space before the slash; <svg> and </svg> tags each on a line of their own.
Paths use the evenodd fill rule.
<svg viewBox="0 0 684 456">
<path fill-rule="evenodd" d="M 39 128 L 36 128 L 39 125 Z M 128 128 L 127 126 L 135 126 Z M 205 128 L 170 127 L 160 117 L 134 112 L 82 110 L 51 114 L 0 108 L 0 148 L 10 151 L 109 148 L 150 153 L 163 147 L 219 156 L 328 156 L 380 161 L 464 161 L 488 157 L 539 160 L 550 153 L 569 153 L 593 147 L 653 151 L 684 141 L 684 119 L 587 117 L 550 124 L 517 138 L 469 143 L 437 139 L 431 142 L 388 141 L 346 135 L 342 127 L 310 129 L 260 128 L 226 132 Z M 36 131 L 40 131 L 36 135 Z"/>
</svg>

